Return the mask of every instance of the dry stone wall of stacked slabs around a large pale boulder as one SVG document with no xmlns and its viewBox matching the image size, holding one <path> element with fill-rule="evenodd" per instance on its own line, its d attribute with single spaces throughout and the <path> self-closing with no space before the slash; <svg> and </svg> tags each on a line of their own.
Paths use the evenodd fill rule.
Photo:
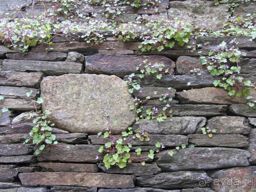
<svg viewBox="0 0 256 192">
<path fill-rule="evenodd" d="M 179 11 L 187 7 L 192 12 L 185 10 L 186 18 L 198 14 L 197 22 L 202 22 L 212 2 L 194 4 L 191 8 L 190 1 L 162 1 L 160 8 L 171 19 L 181 17 Z M 196 13 L 198 6 L 205 6 L 202 13 Z M 10 11 L 8 7 L 1 8 Z M 221 17 L 218 11 L 214 13 Z M 147 11 L 127 14 L 130 21 L 131 16 Z M 211 46 L 216 46 L 233 38 L 198 37 L 182 47 L 174 45 L 173 49 L 142 53 L 138 49 L 140 42 L 120 42 L 114 38 L 94 46 L 56 38 L 52 52 L 46 53 L 45 45 L 38 44 L 25 56 L 0 45 L 0 95 L 5 98 L 0 100 L 0 106 L 13 110 L 0 117 L 0 191 L 255 191 L 256 110 L 246 104 L 245 98 L 229 96 L 224 89 L 214 87 L 213 81 L 221 77 L 210 75 L 200 64 L 196 53 L 199 50 L 192 51 L 195 44 L 209 41 Z M 239 44 L 239 49 L 247 53 L 240 59 L 242 76 L 255 82 L 256 42 L 248 41 L 250 37 L 246 36 L 236 39 L 247 41 Z M 187 45 L 192 48 L 188 49 Z M 208 51 L 202 50 L 200 54 L 207 55 Z M 169 74 L 161 79 L 152 76 L 140 79 L 136 66 L 145 59 L 164 63 Z M 202 75 L 193 75 L 190 70 L 194 67 Z M 124 82 L 131 73 L 135 73 L 133 79 L 141 86 L 133 95 L 128 93 Z M 129 109 L 134 105 L 134 98 L 154 96 L 154 91 L 164 94 L 169 87 L 172 89 L 168 97 L 172 101 L 150 99 L 141 114 L 146 116 L 147 109 L 161 110 L 169 104 L 173 117 L 161 122 L 156 119 L 136 122 L 135 109 Z M 32 97 L 41 94 L 45 102 L 34 105 L 26 96 L 29 91 Z M 256 91 L 251 89 L 251 94 L 255 97 Z M 61 145 L 49 145 L 39 155 L 35 155 L 38 146 L 23 145 L 37 117 L 28 111 L 35 107 L 52 112 L 49 120 L 56 124 L 52 132 Z M 121 107 L 124 110 L 120 111 Z M 165 146 L 164 151 L 180 143 L 195 147 L 176 150 L 172 157 L 156 155 L 145 165 L 132 163 L 122 169 L 117 166 L 106 169 L 101 163 L 103 155 L 98 152 L 106 139 L 97 135 L 108 126 L 106 113 L 119 123 L 112 130 L 114 134 L 129 126 L 134 134 L 139 129 L 150 134 L 147 142 L 130 141 L 134 157 L 137 147 L 142 149 L 142 155 L 147 155 L 156 149 L 157 141 Z M 201 128 L 205 126 L 216 129 L 212 138 L 202 134 Z"/>
</svg>

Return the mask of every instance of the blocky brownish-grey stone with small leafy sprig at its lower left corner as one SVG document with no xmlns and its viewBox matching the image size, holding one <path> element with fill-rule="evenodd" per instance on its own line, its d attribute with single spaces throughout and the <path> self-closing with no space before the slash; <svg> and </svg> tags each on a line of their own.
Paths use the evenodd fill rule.
<svg viewBox="0 0 256 192">
<path fill-rule="evenodd" d="M 214 134 L 249 134 L 250 125 L 244 117 L 222 116 L 213 117 L 207 121 L 207 126 L 216 129 Z M 197 129 L 196 133 L 202 133 Z"/>
</svg>

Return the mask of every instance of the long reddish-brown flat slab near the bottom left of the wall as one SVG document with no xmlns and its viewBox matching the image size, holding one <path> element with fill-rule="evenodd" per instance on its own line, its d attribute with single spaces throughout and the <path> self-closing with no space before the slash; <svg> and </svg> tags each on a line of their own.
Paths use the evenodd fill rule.
<svg viewBox="0 0 256 192">
<path fill-rule="evenodd" d="M 101 188 L 134 188 L 133 175 L 119 175 L 106 173 L 77 173 L 77 172 L 41 172 L 20 173 L 19 178 L 23 186 L 81 186 Z"/>
</svg>

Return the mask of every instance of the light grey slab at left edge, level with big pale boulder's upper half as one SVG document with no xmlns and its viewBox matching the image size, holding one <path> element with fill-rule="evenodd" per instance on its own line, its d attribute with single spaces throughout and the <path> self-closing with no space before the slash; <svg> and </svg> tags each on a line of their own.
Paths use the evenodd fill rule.
<svg viewBox="0 0 256 192">
<path fill-rule="evenodd" d="M 27 87 L 8 87 L 0 86 L 0 95 L 12 95 L 18 97 L 27 97 L 27 92 L 32 92 L 31 97 L 35 97 L 37 89 L 27 88 Z"/>
</svg>

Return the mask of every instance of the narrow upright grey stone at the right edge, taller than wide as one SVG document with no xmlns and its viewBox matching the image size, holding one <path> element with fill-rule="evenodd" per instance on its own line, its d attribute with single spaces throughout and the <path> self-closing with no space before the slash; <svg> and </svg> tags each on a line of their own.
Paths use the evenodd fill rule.
<svg viewBox="0 0 256 192">
<path fill-rule="evenodd" d="M 249 138 L 249 146 L 246 150 L 251 153 L 251 157 L 249 158 L 250 165 L 256 165 L 256 129 L 251 129 Z"/>
</svg>

